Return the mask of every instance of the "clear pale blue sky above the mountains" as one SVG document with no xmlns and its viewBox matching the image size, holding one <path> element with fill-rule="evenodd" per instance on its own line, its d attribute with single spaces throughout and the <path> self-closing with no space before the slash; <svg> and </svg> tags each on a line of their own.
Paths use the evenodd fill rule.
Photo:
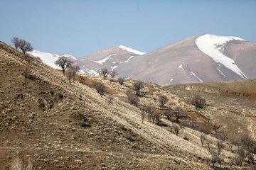
<svg viewBox="0 0 256 170">
<path fill-rule="evenodd" d="M 256 1 L 0 0 L 0 40 L 77 57 L 113 45 L 150 52 L 193 35 L 256 41 Z"/>
</svg>

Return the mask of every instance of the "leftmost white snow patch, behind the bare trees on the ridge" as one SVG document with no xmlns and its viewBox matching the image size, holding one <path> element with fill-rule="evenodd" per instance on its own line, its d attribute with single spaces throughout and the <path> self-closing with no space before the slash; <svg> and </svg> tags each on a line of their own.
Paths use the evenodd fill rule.
<svg viewBox="0 0 256 170">
<path fill-rule="evenodd" d="M 27 53 L 30 55 L 33 55 L 33 57 L 39 57 L 42 60 L 43 64 L 46 64 L 54 69 L 61 69 L 58 65 L 55 64 L 55 61 L 58 60 L 59 57 L 69 57 L 73 60 L 78 60 L 73 55 L 66 55 L 66 54 L 56 55 L 48 52 L 41 52 L 38 50 L 33 50 Z"/>
</svg>

